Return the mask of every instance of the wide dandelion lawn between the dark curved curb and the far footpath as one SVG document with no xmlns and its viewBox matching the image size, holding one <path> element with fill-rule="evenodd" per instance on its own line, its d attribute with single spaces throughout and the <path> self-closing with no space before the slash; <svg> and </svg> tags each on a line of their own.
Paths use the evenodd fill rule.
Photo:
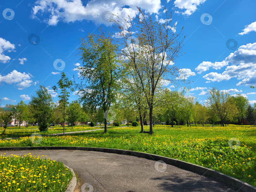
<svg viewBox="0 0 256 192">
<path fill-rule="evenodd" d="M 145 126 L 148 131 L 149 127 Z M 76 146 L 106 147 L 139 151 L 180 159 L 201 165 L 256 186 L 256 127 L 163 126 L 153 128 L 154 134 L 143 134 L 140 127 L 120 127 L 66 136 L 43 137 L 34 144 L 30 137 L 0 141 L 0 147 Z M 239 147 L 230 147 L 237 138 Z M 233 143 L 235 145 L 235 143 Z"/>
</svg>

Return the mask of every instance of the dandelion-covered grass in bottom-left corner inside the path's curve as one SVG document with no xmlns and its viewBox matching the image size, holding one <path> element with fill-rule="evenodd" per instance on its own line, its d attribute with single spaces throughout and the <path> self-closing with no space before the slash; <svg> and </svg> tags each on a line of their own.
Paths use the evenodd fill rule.
<svg viewBox="0 0 256 192">
<path fill-rule="evenodd" d="M 0 156 L 0 192 L 62 192 L 68 188 L 73 174 L 62 162 L 30 154 Z"/>
</svg>

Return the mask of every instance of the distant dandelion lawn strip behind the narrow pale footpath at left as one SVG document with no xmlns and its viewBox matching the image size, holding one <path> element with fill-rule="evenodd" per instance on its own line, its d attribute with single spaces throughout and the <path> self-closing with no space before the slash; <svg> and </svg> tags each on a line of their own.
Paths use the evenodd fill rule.
<svg viewBox="0 0 256 192">
<path fill-rule="evenodd" d="M 13 128 L 13 127 L 12 127 Z M 37 127 L 34 127 L 34 129 L 26 129 L 26 128 L 6 128 L 5 134 L 3 135 L 3 129 L 0 129 L 0 139 L 3 138 L 10 138 L 10 137 L 24 137 L 24 136 L 31 136 L 32 133 L 40 133 L 41 135 L 46 135 L 46 134 L 54 134 L 54 133 L 63 133 L 63 128 L 54 126 L 49 128 L 47 131 L 42 131 L 40 132 Z M 89 127 L 89 126 L 73 126 L 73 129 L 71 126 L 66 126 L 65 127 L 65 133 L 68 132 L 73 132 L 73 131 L 85 131 L 85 130 L 92 130 L 92 129 L 102 129 L 104 127 Z M 10 130 L 9 130 L 10 129 Z"/>
</svg>

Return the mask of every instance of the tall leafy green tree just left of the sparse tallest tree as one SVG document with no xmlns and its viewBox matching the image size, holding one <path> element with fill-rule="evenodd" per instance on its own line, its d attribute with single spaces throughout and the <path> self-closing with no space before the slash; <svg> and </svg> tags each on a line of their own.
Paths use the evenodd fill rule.
<svg viewBox="0 0 256 192">
<path fill-rule="evenodd" d="M 119 91 L 118 46 L 112 36 L 100 30 L 100 34 L 89 34 L 82 39 L 79 48 L 83 66 L 78 67 L 81 84 L 77 85 L 81 102 L 95 111 L 99 106 L 104 114 L 115 102 Z M 84 82 L 85 81 L 85 82 Z M 104 133 L 107 133 L 107 119 L 104 120 Z"/>
</svg>

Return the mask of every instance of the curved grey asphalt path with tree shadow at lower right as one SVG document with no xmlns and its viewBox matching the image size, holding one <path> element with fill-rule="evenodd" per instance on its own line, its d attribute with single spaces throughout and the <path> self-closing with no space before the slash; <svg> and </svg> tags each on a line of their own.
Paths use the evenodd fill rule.
<svg viewBox="0 0 256 192">
<path fill-rule="evenodd" d="M 129 155 L 81 150 L 0 151 L 6 155 L 47 155 L 71 167 L 78 176 L 75 192 L 83 183 L 93 192 L 236 192 L 230 186 L 172 165 L 161 172 L 162 164 Z M 160 171 L 157 171 L 160 170 Z M 87 188 L 87 191 L 92 191 Z"/>
</svg>

